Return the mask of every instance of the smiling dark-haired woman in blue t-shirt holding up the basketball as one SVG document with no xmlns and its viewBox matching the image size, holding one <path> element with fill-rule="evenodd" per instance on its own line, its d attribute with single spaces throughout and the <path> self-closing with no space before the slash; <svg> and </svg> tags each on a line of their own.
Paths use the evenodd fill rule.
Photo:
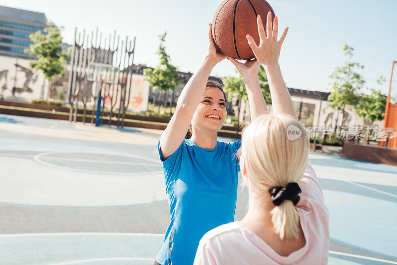
<svg viewBox="0 0 397 265">
<path fill-rule="evenodd" d="M 175 114 L 159 140 L 171 221 L 155 264 L 193 264 L 201 237 L 234 219 L 240 171 L 236 152 L 241 140 L 217 141 L 227 102 L 222 85 L 207 79 L 226 56 L 216 52 L 211 25 L 208 40 L 207 54 L 182 90 Z M 253 119 L 267 111 L 259 65 L 250 61 L 240 67 Z"/>
</svg>

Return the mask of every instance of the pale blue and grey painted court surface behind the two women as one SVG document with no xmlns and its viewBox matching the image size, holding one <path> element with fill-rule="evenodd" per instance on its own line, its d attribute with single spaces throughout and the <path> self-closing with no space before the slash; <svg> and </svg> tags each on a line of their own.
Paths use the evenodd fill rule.
<svg viewBox="0 0 397 265">
<path fill-rule="evenodd" d="M 160 134 L 0 115 L 0 264 L 153 264 L 169 222 Z M 397 167 L 309 157 L 329 264 L 397 264 Z M 236 220 L 246 204 L 239 191 Z"/>
</svg>

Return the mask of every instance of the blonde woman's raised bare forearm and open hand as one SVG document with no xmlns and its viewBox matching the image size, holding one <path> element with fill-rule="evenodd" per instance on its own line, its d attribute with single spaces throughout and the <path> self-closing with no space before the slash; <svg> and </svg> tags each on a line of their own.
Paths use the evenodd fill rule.
<svg viewBox="0 0 397 265">
<path fill-rule="evenodd" d="M 247 35 L 247 40 L 255 57 L 265 67 L 267 80 L 269 82 L 273 113 L 286 113 L 297 119 L 291 96 L 282 78 L 280 66 L 278 65 L 281 45 L 287 35 L 288 28 L 284 30 L 280 40 L 277 41 L 277 17 L 274 18 L 274 26 L 272 26 L 271 13 L 269 12 L 267 14 L 266 35 L 261 16 L 258 16 L 257 23 L 261 39 L 260 45 L 257 46 L 250 35 Z"/>
</svg>

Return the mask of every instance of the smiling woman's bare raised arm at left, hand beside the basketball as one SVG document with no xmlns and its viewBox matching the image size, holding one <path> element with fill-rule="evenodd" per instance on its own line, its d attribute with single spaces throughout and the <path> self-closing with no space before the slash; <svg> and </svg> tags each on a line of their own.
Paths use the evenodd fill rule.
<svg viewBox="0 0 397 265">
<path fill-rule="evenodd" d="M 182 90 L 175 113 L 167 128 L 161 134 L 160 149 L 163 160 L 167 159 L 181 145 L 188 132 L 193 114 L 204 94 L 205 85 L 212 68 L 226 58 L 225 55 L 219 54 L 215 50 L 211 24 L 209 24 L 208 42 L 208 51 L 204 60 Z"/>
</svg>

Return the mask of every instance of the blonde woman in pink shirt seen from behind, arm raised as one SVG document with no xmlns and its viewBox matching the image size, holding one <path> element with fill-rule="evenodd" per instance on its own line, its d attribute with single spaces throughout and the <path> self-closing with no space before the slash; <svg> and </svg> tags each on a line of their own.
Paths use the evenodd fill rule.
<svg viewBox="0 0 397 265">
<path fill-rule="evenodd" d="M 325 265 L 329 215 L 308 161 L 305 129 L 297 121 L 278 66 L 277 17 L 274 28 L 267 23 L 267 37 L 260 17 L 258 30 L 259 47 L 247 39 L 265 66 L 274 114 L 259 116 L 243 132 L 239 160 L 249 190 L 248 212 L 240 222 L 206 233 L 194 264 Z"/>
</svg>

